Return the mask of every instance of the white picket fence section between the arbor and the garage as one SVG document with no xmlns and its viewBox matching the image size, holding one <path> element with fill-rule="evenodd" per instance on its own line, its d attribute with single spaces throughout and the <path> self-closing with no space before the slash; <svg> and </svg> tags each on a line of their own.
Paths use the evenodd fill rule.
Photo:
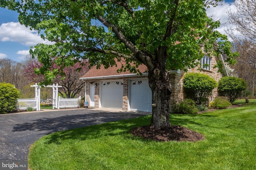
<svg viewBox="0 0 256 170">
<path fill-rule="evenodd" d="M 80 107 L 81 96 L 78 98 L 62 98 L 59 96 L 58 109 Z"/>
</svg>

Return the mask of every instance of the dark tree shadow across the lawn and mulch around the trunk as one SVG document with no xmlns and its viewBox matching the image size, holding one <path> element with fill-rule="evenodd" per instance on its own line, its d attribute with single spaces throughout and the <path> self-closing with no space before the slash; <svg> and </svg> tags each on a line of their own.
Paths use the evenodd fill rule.
<svg viewBox="0 0 256 170">
<path fill-rule="evenodd" d="M 186 127 L 171 126 L 167 129 L 152 130 L 149 129 L 151 116 L 138 117 L 136 119 L 127 119 L 107 124 L 83 127 L 71 131 L 62 131 L 51 134 L 47 137 L 46 143 L 60 144 L 61 141 L 69 139 L 78 139 L 81 141 L 97 139 L 100 137 L 120 135 L 124 139 L 142 140 L 142 141 L 201 141 L 204 136 Z M 172 119 L 171 119 L 172 121 Z M 189 119 L 173 120 L 175 123 L 192 123 L 201 125 Z"/>
</svg>

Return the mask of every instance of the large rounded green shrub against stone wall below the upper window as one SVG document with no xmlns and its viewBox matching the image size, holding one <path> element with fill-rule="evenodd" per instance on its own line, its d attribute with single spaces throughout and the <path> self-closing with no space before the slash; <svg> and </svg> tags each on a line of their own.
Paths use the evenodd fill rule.
<svg viewBox="0 0 256 170">
<path fill-rule="evenodd" d="M 201 104 L 208 106 L 208 98 L 212 94 L 212 90 L 217 87 L 217 82 L 207 74 L 187 73 L 184 76 L 183 87 L 196 106 Z"/>
</svg>

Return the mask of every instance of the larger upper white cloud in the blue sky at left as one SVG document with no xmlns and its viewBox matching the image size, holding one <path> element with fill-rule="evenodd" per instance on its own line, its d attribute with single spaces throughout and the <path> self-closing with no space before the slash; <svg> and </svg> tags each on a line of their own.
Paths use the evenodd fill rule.
<svg viewBox="0 0 256 170">
<path fill-rule="evenodd" d="M 13 41 L 25 46 L 46 43 L 46 41 L 40 38 L 37 31 L 31 31 L 28 27 L 18 22 L 8 22 L 0 25 L 0 41 Z"/>
</svg>

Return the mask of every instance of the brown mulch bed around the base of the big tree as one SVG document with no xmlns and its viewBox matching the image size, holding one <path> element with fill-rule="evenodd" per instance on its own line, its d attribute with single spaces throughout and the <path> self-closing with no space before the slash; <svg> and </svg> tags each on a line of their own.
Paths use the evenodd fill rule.
<svg viewBox="0 0 256 170">
<path fill-rule="evenodd" d="M 202 141 L 204 136 L 186 127 L 179 125 L 169 128 L 151 129 L 150 126 L 138 127 L 132 131 L 132 135 L 144 137 L 154 141 Z"/>
</svg>

